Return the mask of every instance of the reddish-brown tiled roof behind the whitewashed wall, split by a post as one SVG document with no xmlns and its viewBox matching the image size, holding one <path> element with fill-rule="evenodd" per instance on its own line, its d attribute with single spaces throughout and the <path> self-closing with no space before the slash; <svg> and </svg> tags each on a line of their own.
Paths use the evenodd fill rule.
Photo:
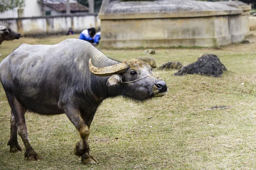
<svg viewBox="0 0 256 170">
<path fill-rule="evenodd" d="M 46 6 L 58 12 L 66 12 L 66 3 L 47 3 Z M 71 12 L 87 12 L 89 8 L 79 3 L 70 3 Z"/>
</svg>

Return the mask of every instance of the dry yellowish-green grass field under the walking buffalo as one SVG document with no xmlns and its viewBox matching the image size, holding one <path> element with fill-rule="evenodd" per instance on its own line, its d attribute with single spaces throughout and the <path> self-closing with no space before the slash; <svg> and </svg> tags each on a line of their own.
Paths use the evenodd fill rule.
<svg viewBox="0 0 256 170">
<path fill-rule="evenodd" d="M 1 60 L 21 43 L 55 44 L 66 38 L 3 42 Z M 105 100 L 96 112 L 89 136 L 90 153 L 99 161 L 97 165 L 84 165 L 73 154 L 79 135 L 65 114 L 26 113 L 30 143 L 41 159 L 29 162 L 23 153 L 10 153 L 6 145 L 10 135 L 10 108 L 0 87 L 0 169 L 255 169 L 256 43 L 229 45 L 219 50 L 155 50 L 156 54 L 151 56 L 157 66 L 169 61 L 186 65 L 200 54 L 208 53 L 216 54 L 228 71 L 220 78 L 175 77 L 175 71 L 155 71 L 154 75 L 159 75 L 169 87 L 166 96 L 145 103 L 122 97 Z M 143 51 L 102 49 L 105 55 L 119 60 L 145 56 Z M 225 107 L 212 109 L 214 106 Z M 18 141 L 24 150 L 20 137 Z"/>
</svg>

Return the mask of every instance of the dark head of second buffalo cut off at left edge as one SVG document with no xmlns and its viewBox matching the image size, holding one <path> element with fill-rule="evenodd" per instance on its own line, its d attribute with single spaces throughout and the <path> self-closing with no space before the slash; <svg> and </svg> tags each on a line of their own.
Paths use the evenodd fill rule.
<svg viewBox="0 0 256 170">
<path fill-rule="evenodd" d="M 19 33 L 12 31 L 11 28 L 8 28 L 6 26 L 0 26 L 0 44 L 2 44 L 4 40 L 10 41 L 10 40 L 15 40 L 19 38 L 20 38 Z"/>
</svg>

